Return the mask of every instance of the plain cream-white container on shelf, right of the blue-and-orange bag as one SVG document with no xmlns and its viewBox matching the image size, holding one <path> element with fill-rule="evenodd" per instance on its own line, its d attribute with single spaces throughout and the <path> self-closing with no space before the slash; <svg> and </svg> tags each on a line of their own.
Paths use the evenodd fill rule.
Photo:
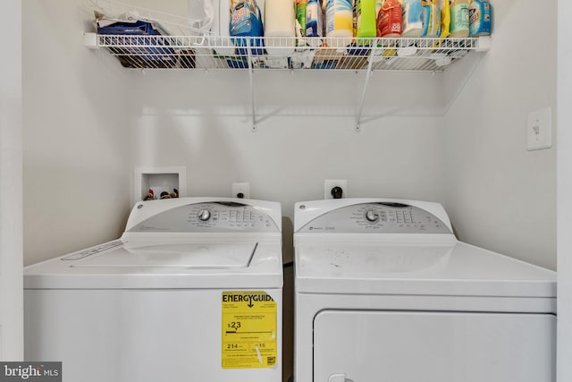
<svg viewBox="0 0 572 382">
<path fill-rule="evenodd" d="M 265 0 L 265 47 L 268 55 L 294 53 L 295 16 L 292 0 Z"/>
</svg>

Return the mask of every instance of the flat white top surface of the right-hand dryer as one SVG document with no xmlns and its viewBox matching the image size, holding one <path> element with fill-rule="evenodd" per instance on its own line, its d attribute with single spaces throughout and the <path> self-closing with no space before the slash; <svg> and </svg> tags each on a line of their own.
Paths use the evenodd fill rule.
<svg viewBox="0 0 572 382">
<path fill-rule="evenodd" d="M 556 273 L 464 242 L 299 242 L 298 293 L 556 297 Z"/>
</svg>

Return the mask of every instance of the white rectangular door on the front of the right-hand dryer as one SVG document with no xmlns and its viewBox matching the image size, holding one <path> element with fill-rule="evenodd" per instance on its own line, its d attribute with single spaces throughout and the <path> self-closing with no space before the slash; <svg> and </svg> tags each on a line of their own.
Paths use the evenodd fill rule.
<svg viewBox="0 0 572 382">
<path fill-rule="evenodd" d="M 552 382 L 551 314 L 324 310 L 315 382 Z"/>
</svg>

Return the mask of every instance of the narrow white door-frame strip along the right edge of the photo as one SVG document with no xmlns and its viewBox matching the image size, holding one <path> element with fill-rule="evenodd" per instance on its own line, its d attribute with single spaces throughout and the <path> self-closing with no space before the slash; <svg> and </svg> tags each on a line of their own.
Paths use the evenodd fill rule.
<svg viewBox="0 0 572 382">
<path fill-rule="evenodd" d="M 558 380 L 572 380 L 572 4 L 558 2 Z"/>
</svg>

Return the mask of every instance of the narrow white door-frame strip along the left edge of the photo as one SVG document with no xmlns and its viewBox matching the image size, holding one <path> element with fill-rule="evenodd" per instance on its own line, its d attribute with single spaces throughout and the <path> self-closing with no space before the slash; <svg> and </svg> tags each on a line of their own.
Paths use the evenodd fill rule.
<svg viewBox="0 0 572 382">
<path fill-rule="evenodd" d="M 21 1 L 0 14 L 0 360 L 22 361 Z"/>
</svg>

